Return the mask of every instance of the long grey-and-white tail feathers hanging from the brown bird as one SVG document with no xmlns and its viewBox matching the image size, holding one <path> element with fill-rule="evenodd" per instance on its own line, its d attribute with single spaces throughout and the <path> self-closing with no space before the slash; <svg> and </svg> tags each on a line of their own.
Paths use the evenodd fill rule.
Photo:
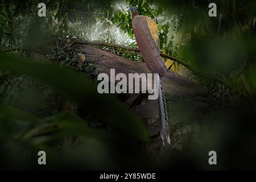
<svg viewBox="0 0 256 182">
<path fill-rule="evenodd" d="M 168 130 L 168 115 L 167 115 L 167 108 L 166 108 L 166 98 L 164 97 L 164 90 L 162 85 L 162 76 L 158 75 L 158 90 L 159 90 L 159 97 L 158 97 L 158 110 L 160 116 L 160 135 L 163 140 L 163 144 L 171 144 L 171 139 Z"/>
</svg>

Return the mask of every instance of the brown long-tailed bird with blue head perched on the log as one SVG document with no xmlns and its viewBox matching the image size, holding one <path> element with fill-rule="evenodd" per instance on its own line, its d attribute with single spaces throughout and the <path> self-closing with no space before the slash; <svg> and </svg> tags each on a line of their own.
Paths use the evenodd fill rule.
<svg viewBox="0 0 256 182">
<path fill-rule="evenodd" d="M 168 129 L 168 116 L 166 109 L 166 100 L 164 98 L 162 77 L 168 72 L 162 57 L 160 56 L 160 40 L 158 35 L 158 26 L 151 18 L 139 15 L 136 7 L 130 7 L 132 15 L 133 32 L 139 51 L 145 61 L 147 68 L 152 73 L 158 73 L 158 110 L 160 118 L 160 135 L 163 144 L 171 144 L 169 129 Z"/>
</svg>

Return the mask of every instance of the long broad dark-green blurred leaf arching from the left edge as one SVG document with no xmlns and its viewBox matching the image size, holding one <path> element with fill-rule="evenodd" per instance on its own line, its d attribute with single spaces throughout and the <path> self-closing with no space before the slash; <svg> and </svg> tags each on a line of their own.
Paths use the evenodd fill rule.
<svg viewBox="0 0 256 182">
<path fill-rule="evenodd" d="M 0 70 L 38 78 L 80 104 L 85 111 L 144 142 L 148 133 L 142 121 L 110 94 L 98 94 L 96 85 L 71 69 L 0 54 Z"/>
</svg>

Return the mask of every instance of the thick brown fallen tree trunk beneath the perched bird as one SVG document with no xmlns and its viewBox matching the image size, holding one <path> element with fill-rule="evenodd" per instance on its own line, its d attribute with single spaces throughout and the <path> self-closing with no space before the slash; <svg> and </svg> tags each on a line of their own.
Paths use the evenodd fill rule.
<svg viewBox="0 0 256 182">
<path fill-rule="evenodd" d="M 102 68 L 103 73 L 110 76 L 110 69 L 117 73 L 150 73 L 146 64 L 131 61 L 101 49 L 82 46 L 85 61 Z M 118 82 L 118 81 L 117 81 Z M 163 89 L 166 96 L 168 122 L 171 125 L 171 147 L 163 146 L 159 133 L 158 101 L 148 100 L 147 94 L 118 94 L 118 97 L 137 113 L 148 127 L 151 142 L 146 145 L 152 156 L 166 148 L 182 150 L 184 126 L 192 126 L 192 122 L 201 122 L 207 118 L 208 98 L 201 86 L 173 72 L 168 72 L 163 78 Z M 194 123 L 193 123 L 194 124 Z M 195 126 L 196 127 L 196 126 Z"/>
</svg>

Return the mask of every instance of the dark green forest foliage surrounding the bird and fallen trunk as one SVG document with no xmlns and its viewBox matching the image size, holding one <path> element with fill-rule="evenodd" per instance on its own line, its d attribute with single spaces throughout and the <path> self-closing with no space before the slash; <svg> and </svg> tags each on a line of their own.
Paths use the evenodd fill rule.
<svg viewBox="0 0 256 182">
<path fill-rule="evenodd" d="M 38 16 L 40 2 L 46 17 Z M 210 2 L 217 17 L 208 15 Z M 209 97 L 208 117 L 183 125 L 179 145 L 154 158 L 143 147 L 150 139 L 140 119 L 117 97 L 97 94 L 101 69 L 77 68 L 79 46 L 67 49 L 73 40 L 137 47 L 130 6 L 158 24 L 161 52 L 176 58 L 163 59 L 167 68 Z M 1 168 L 255 169 L 255 20 L 253 0 L 1 0 Z M 96 47 L 143 61 L 138 53 Z M 65 110 L 67 103 L 79 111 Z M 37 163 L 40 150 L 47 151 L 46 166 Z M 208 164 L 211 150 L 217 166 Z"/>
</svg>

